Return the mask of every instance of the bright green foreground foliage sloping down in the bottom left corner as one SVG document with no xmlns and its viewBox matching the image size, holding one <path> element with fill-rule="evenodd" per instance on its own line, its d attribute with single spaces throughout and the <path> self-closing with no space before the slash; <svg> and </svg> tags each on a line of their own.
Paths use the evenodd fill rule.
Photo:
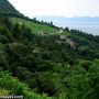
<svg viewBox="0 0 99 99">
<path fill-rule="evenodd" d="M 0 72 L 0 96 L 21 95 L 24 99 L 51 99 L 33 92 L 24 82 L 11 77 L 9 72 Z"/>
</svg>

